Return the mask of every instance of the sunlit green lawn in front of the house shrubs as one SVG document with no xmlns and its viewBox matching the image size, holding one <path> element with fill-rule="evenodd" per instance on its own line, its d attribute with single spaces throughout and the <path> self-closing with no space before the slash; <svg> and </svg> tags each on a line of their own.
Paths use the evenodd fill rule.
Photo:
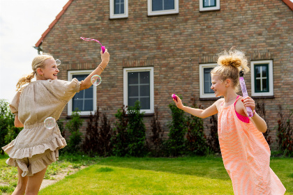
<svg viewBox="0 0 293 195">
<path fill-rule="evenodd" d="M 42 189 L 40 195 L 233 194 L 232 182 L 220 157 L 89 158 L 61 155 L 60 159 L 58 164 L 52 164 L 52 168 L 49 166 L 47 172 L 52 169 L 50 176 L 66 166 L 90 166 Z M 0 170 L 3 166 L 6 167 L 0 159 Z M 273 157 L 271 169 L 286 187 L 285 194 L 293 195 L 293 159 Z"/>
</svg>

